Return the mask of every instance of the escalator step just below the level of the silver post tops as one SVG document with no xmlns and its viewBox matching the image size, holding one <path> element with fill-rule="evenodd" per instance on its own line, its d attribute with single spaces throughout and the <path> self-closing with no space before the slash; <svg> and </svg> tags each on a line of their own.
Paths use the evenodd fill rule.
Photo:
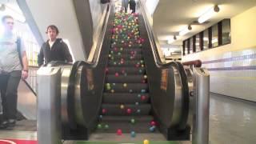
<svg viewBox="0 0 256 144">
<path fill-rule="evenodd" d="M 145 74 L 146 70 L 144 67 L 109 67 L 108 69 L 108 74 L 123 74 L 126 73 L 127 75 L 129 74 Z"/>
</svg>

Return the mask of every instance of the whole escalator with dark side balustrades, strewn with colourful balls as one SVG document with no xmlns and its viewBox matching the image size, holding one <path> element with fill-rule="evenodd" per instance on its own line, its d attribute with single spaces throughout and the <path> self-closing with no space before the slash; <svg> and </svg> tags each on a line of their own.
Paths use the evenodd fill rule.
<svg viewBox="0 0 256 144">
<path fill-rule="evenodd" d="M 105 141 L 122 134 L 190 140 L 190 71 L 162 62 L 141 3 L 138 8 L 139 14 L 124 14 L 110 5 L 92 62 L 38 70 L 39 144 L 94 134 Z"/>
</svg>

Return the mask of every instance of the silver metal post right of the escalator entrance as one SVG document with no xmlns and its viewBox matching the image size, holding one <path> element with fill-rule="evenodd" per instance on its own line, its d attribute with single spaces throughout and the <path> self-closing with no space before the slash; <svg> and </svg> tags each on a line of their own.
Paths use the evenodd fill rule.
<svg viewBox="0 0 256 144">
<path fill-rule="evenodd" d="M 204 68 L 194 67 L 194 122 L 192 144 L 209 143 L 210 74 Z"/>
</svg>

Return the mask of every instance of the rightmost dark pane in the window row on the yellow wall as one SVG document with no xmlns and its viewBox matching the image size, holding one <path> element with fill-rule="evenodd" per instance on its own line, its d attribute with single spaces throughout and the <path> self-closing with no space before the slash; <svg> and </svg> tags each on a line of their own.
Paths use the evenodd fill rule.
<svg viewBox="0 0 256 144">
<path fill-rule="evenodd" d="M 230 19 L 224 19 L 222 21 L 222 44 L 225 45 L 230 42 L 231 42 Z"/>
</svg>

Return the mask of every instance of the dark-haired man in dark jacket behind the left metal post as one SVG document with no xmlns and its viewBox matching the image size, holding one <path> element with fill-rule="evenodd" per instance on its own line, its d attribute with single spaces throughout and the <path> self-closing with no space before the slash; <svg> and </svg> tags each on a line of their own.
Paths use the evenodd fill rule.
<svg viewBox="0 0 256 144">
<path fill-rule="evenodd" d="M 42 66 L 51 61 L 73 62 L 68 46 L 62 38 L 57 38 L 58 27 L 50 25 L 47 27 L 46 34 L 48 40 L 42 44 L 38 54 L 38 66 Z"/>
</svg>

